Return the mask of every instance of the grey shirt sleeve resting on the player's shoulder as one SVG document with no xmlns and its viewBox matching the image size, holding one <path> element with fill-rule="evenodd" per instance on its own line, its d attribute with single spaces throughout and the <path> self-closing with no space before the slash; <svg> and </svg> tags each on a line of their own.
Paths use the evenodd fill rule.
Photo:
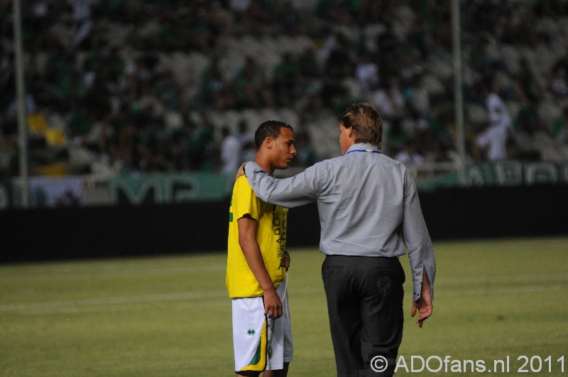
<svg viewBox="0 0 568 377">
<path fill-rule="evenodd" d="M 313 165 L 293 177 L 276 179 L 253 161 L 246 163 L 244 167 L 246 179 L 256 196 L 283 207 L 298 207 L 317 200 L 320 183 L 316 169 Z"/>
</svg>

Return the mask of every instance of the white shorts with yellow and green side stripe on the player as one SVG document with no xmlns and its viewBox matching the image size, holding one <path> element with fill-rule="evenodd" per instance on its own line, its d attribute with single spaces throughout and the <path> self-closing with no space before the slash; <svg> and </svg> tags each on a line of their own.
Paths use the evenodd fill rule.
<svg viewBox="0 0 568 377">
<path fill-rule="evenodd" d="M 235 372 L 277 371 L 292 361 L 292 329 L 288 307 L 288 276 L 275 288 L 282 301 L 282 317 L 264 315 L 263 297 L 233 299 Z"/>
</svg>

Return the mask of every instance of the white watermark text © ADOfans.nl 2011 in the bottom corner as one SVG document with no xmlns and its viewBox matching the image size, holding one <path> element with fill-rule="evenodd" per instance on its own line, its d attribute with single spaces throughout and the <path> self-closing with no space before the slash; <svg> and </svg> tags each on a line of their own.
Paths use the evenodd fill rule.
<svg viewBox="0 0 568 377">
<path fill-rule="evenodd" d="M 454 359 L 452 356 L 398 356 L 396 372 L 406 373 L 564 373 L 565 357 L 562 356 L 504 356 L 503 359 L 473 360 Z M 384 356 L 371 360 L 371 369 L 386 371 L 388 361 Z"/>
</svg>

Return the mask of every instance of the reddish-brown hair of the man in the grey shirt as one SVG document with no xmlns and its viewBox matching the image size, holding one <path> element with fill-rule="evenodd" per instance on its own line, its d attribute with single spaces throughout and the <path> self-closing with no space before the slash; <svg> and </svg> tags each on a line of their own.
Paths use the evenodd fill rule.
<svg viewBox="0 0 568 377">
<path fill-rule="evenodd" d="M 382 147 L 383 119 L 372 104 L 352 104 L 337 119 L 344 127 L 353 127 L 357 131 L 356 143 L 370 143 L 378 148 Z"/>
</svg>

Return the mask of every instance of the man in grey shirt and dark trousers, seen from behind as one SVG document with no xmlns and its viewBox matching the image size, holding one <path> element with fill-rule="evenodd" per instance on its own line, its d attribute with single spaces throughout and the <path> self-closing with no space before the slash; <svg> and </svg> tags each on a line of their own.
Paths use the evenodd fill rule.
<svg viewBox="0 0 568 377">
<path fill-rule="evenodd" d="M 322 278 L 338 376 L 391 376 L 403 332 L 403 283 L 398 257 L 413 274 L 412 316 L 432 314 L 434 249 L 415 183 L 402 163 L 380 151 L 382 119 L 370 104 L 339 116 L 342 156 L 278 180 L 256 163 L 244 172 L 266 202 L 297 207 L 317 201 Z M 376 364 L 382 356 L 386 365 Z M 374 359 L 373 359 L 374 358 Z M 373 361 L 373 365 L 371 365 Z"/>
</svg>

